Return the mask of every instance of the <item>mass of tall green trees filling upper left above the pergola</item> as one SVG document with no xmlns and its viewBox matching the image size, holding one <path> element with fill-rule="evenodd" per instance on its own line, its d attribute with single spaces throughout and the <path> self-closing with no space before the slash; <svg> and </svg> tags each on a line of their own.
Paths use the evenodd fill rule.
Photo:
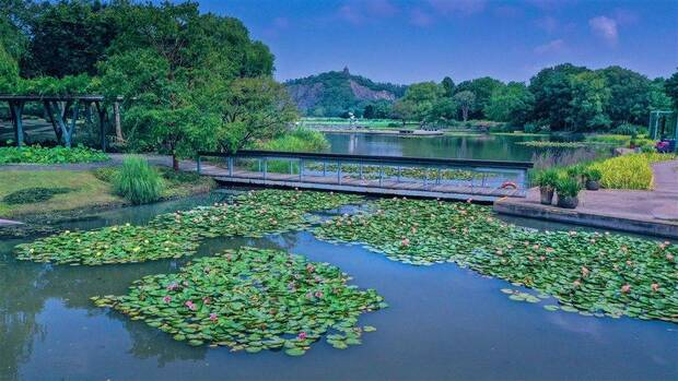
<svg viewBox="0 0 678 381">
<path fill-rule="evenodd" d="M 176 158 L 276 135 L 297 115 L 272 72 L 241 21 L 196 2 L 0 0 L 0 92 L 122 96 L 137 151 Z"/>
</svg>

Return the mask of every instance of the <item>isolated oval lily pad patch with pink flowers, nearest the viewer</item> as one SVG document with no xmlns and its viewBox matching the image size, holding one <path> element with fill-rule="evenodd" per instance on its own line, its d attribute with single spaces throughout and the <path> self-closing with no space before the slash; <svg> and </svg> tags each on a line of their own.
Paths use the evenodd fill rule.
<svg viewBox="0 0 678 381">
<path fill-rule="evenodd" d="M 361 343 L 372 326 L 358 317 L 387 307 L 328 263 L 278 250 L 241 248 L 201 258 L 176 274 L 145 276 L 125 296 L 92 298 L 190 345 L 303 355 L 327 334 L 337 348 Z"/>
</svg>

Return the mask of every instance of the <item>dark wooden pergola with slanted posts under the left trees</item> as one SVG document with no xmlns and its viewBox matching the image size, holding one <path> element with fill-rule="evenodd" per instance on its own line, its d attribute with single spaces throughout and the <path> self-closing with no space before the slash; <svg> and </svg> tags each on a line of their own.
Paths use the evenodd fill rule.
<svg viewBox="0 0 678 381">
<path fill-rule="evenodd" d="M 81 106 L 85 106 L 85 114 L 89 117 L 90 107 L 94 105 L 98 114 L 101 147 L 102 151 L 106 151 L 106 107 L 103 104 L 104 99 L 103 95 L 0 95 L 0 102 L 7 102 L 10 106 L 16 146 L 24 144 L 22 121 L 24 105 L 28 102 L 36 102 L 45 107 L 45 115 L 54 128 L 57 142 L 63 143 L 67 147 L 72 144 Z M 121 97 L 117 97 L 114 102 L 121 99 Z"/>
</svg>

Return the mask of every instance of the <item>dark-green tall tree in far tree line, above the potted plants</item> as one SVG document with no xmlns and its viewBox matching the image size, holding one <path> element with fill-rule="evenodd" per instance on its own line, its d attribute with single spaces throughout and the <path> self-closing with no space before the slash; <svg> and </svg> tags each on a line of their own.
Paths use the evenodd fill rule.
<svg viewBox="0 0 678 381">
<path fill-rule="evenodd" d="M 542 69 L 529 80 L 535 96 L 533 121 L 548 123 L 553 131 L 563 130 L 571 114 L 572 88 L 570 75 L 588 71 L 571 63 Z"/>
</svg>

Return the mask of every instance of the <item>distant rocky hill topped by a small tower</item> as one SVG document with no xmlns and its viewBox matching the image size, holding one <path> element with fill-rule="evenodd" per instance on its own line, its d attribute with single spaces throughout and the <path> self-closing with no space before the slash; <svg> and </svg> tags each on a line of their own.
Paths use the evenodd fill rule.
<svg viewBox="0 0 678 381">
<path fill-rule="evenodd" d="M 376 83 L 353 75 L 348 68 L 285 82 L 285 87 L 302 114 L 315 117 L 338 117 L 347 111 L 362 111 L 374 103 L 393 103 L 406 86 Z"/>
</svg>

